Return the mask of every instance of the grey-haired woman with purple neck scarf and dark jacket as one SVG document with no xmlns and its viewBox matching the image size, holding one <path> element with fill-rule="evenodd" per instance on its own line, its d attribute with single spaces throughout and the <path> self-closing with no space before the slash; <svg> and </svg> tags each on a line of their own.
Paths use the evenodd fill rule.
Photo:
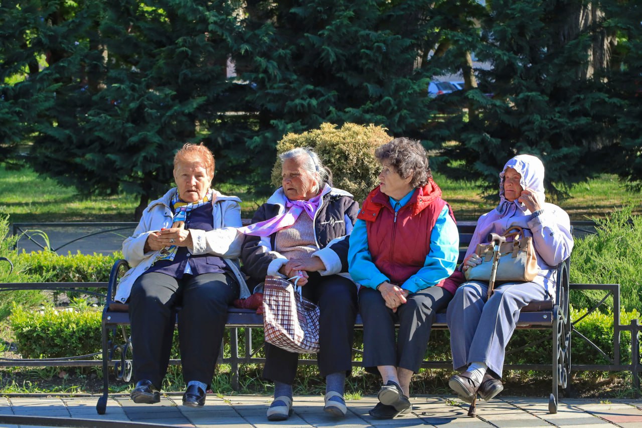
<svg viewBox="0 0 642 428">
<path fill-rule="evenodd" d="M 352 370 L 352 338 L 356 317 L 356 285 L 339 274 L 346 265 L 345 247 L 334 251 L 331 241 L 349 235 L 359 206 L 352 195 L 333 188 L 329 170 L 309 148 L 280 155 L 282 187 L 256 211 L 245 227 L 243 266 L 256 281 L 266 275 L 299 276 L 305 298 L 318 303 L 318 366 L 325 377 L 324 410 L 345 416 L 346 374 Z M 345 274 L 344 274 L 345 275 Z M 292 384 L 299 355 L 265 344 L 263 377 L 274 382 L 268 420 L 292 413 Z"/>
</svg>

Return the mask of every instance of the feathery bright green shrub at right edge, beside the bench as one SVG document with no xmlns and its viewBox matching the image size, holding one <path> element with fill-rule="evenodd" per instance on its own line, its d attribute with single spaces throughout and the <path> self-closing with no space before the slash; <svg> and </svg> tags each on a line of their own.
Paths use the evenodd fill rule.
<svg viewBox="0 0 642 428">
<path fill-rule="evenodd" d="M 642 312 L 642 216 L 633 206 L 593 218 L 596 233 L 575 240 L 571 255 L 571 283 L 620 284 L 621 307 Z M 577 308 L 593 307 L 603 296 L 599 290 L 571 293 Z M 612 300 L 609 302 L 612 307 Z"/>
</svg>

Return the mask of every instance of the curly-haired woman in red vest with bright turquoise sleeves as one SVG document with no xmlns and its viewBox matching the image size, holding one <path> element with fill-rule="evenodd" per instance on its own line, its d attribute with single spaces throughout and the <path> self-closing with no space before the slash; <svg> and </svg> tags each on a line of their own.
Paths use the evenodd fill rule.
<svg viewBox="0 0 642 428">
<path fill-rule="evenodd" d="M 363 202 L 348 263 L 361 285 L 363 366 L 383 379 L 369 413 L 390 419 L 411 411 L 410 380 L 421 367 L 435 314 L 455 291 L 445 280 L 455 270 L 459 235 L 418 141 L 395 138 L 375 156 L 381 184 Z"/>
</svg>

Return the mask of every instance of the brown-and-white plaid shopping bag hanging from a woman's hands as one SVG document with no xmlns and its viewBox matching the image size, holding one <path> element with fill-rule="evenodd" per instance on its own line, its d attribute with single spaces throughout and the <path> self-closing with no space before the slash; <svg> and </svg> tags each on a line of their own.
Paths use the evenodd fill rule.
<svg viewBox="0 0 642 428">
<path fill-rule="evenodd" d="M 263 285 L 265 341 L 286 351 L 319 350 L 319 308 L 301 296 L 300 287 L 278 276 L 266 276 Z"/>
</svg>

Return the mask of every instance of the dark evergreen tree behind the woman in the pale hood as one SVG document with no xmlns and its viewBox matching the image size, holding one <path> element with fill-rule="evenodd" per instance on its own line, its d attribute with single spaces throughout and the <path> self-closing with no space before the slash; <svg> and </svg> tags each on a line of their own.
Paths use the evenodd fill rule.
<svg viewBox="0 0 642 428">
<path fill-rule="evenodd" d="M 492 98 L 467 94 L 473 114 L 453 116 L 444 127 L 459 134 L 446 151 L 465 166 L 458 177 L 482 177 L 496 195 L 497 172 L 515 154 L 539 156 L 547 167 L 553 196 L 569 185 L 603 170 L 616 141 L 605 130 L 612 116 L 605 86 L 586 73 L 594 37 L 602 29 L 573 24 L 569 15 L 587 7 L 582 0 L 493 0 L 481 22 L 480 60 L 492 68 L 479 75 L 492 88 Z M 555 186 L 552 185 L 555 183 Z"/>
</svg>

